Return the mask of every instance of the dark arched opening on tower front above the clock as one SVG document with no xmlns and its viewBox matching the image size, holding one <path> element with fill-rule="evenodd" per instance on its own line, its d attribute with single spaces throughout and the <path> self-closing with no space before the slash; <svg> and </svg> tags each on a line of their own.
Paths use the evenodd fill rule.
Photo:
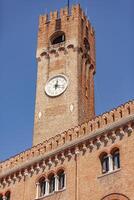
<svg viewBox="0 0 134 200">
<path fill-rule="evenodd" d="M 59 44 L 61 42 L 65 42 L 65 33 L 62 31 L 58 31 L 58 32 L 54 33 L 51 36 L 50 41 L 51 41 L 52 45 Z"/>
</svg>

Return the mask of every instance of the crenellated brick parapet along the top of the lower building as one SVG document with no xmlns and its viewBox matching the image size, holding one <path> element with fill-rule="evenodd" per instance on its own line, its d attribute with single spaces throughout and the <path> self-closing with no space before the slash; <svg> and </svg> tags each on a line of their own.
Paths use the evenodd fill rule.
<svg viewBox="0 0 134 200">
<path fill-rule="evenodd" d="M 68 144 L 71 141 L 75 141 L 82 136 L 94 134 L 96 130 L 104 129 L 114 123 L 117 123 L 123 118 L 127 118 L 134 114 L 134 101 L 130 101 L 121 105 L 110 112 L 106 112 L 100 116 L 96 116 L 94 119 L 85 122 L 84 124 L 78 125 L 66 132 L 56 135 L 43 143 L 33 146 L 8 160 L 0 163 L 0 174 L 6 170 L 11 170 L 20 164 L 44 155 L 45 153 L 56 150 L 58 147 Z"/>
</svg>

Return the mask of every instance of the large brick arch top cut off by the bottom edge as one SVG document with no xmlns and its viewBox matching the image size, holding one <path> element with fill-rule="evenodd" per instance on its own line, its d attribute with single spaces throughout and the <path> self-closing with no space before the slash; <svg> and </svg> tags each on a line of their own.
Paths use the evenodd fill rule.
<svg viewBox="0 0 134 200">
<path fill-rule="evenodd" d="M 103 197 L 101 200 L 130 200 L 127 196 L 120 193 L 112 193 Z"/>
</svg>

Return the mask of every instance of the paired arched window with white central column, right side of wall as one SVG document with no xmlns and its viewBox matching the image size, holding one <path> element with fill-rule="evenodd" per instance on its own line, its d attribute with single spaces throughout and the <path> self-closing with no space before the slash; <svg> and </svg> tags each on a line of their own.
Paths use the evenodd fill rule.
<svg viewBox="0 0 134 200">
<path fill-rule="evenodd" d="M 100 155 L 102 173 L 111 172 L 120 168 L 119 149 L 114 149 L 110 154 L 103 152 Z"/>
</svg>

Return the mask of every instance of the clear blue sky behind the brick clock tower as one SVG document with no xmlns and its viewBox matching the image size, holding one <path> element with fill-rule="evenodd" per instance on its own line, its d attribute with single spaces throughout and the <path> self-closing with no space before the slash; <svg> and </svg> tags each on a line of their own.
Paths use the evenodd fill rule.
<svg viewBox="0 0 134 200">
<path fill-rule="evenodd" d="M 96 31 L 96 114 L 134 97 L 134 1 L 70 0 Z M 0 160 L 32 145 L 38 16 L 67 0 L 0 0 Z"/>
</svg>

